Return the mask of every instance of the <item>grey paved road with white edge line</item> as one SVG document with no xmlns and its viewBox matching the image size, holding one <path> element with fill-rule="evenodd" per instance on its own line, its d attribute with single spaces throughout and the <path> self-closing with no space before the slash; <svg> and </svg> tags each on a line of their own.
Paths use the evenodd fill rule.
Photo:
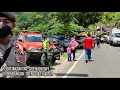
<svg viewBox="0 0 120 90">
<path fill-rule="evenodd" d="M 85 63 L 84 52 L 78 61 L 57 74 L 58 78 L 120 78 L 120 47 L 102 44 L 92 51 L 91 62 Z"/>
</svg>

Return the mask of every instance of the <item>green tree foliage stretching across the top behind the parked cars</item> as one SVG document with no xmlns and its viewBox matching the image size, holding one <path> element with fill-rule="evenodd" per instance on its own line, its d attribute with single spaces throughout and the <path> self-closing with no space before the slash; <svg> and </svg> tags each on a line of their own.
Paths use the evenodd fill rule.
<svg viewBox="0 0 120 90">
<path fill-rule="evenodd" d="M 88 28 L 93 32 L 100 23 L 110 25 L 120 21 L 120 12 L 16 12 L 18 27 L 21 30 L 40 31 L 43 34 L 76 34 Z"/>
</svg>

